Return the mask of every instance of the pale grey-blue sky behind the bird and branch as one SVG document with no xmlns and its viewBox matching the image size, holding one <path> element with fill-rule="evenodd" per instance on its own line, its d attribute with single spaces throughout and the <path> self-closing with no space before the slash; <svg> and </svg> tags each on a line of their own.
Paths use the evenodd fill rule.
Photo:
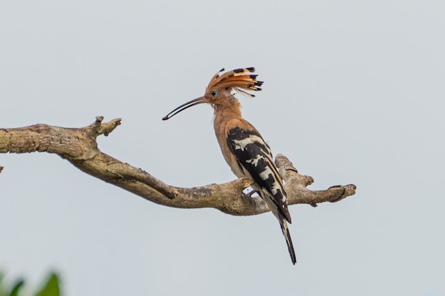
<svg viewBox="0 0 445 296">
<path fill-rule="evenodd" d="M 334 204 L 162 207 L 56 155 L 0 155 L 0 270 L 65 295 L 445 295 L 445 2 L 0 1 L 0 128 L 122 117 L 99 148 L 163 182 L 234 180 L 202 96 L 256 67 L 243 115 Z M 273 117 L 271 117 L 273 116 Z"/>
</svg>

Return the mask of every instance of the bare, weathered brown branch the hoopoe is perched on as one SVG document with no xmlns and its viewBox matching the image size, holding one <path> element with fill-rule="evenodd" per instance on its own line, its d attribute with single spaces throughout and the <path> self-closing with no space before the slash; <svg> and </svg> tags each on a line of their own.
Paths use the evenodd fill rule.
<svg viewBox="0 0 445 296">
<path fill-rule="evenodd" d="M 0 129 L 0 153 L 54 153 L 89 175 L 168 207 L 211 207 L 237 216 L 269 211 L 261 198 L 243 195 L 243 189 L 253 182 L 248 178 L 225 184 L 180 188 L 169 186 L 140 168 L 102 153 L 97 148 L 96 138 L 101 134 L 108 136 L 121 121 L 113 119 L 102 123 L 103 119 L 98 116 L 94 123 L 84 128 L 37 124 L 25 128 Z M 275 164 L 286 182 L 289 205 L 311 204 L 315 207 L 320 202 L 337 202 L 355 194 L 353 184 L 311 191 L 306 186 L 314 182 L 312 177 L 300 175 L 284 155 L 277 155 Z M 0 166 L 0 173 L 2 169 Z"/>
</svg>

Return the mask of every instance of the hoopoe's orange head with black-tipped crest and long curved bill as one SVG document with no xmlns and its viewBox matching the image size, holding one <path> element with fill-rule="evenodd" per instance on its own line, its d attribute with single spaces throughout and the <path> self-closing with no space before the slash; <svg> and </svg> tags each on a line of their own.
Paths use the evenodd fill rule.
<svg viewBox="0 0 445 296">
<path fill-rule="evenodd" d="M 234 69 L 221 73 L 223 71 L 225 71 L 224 68 L 220 69 L 220 71 L 211 78 L 204 96 L 180 105 L 164 116 L 162 120 L 170 119 L 182 110 L 202 103 L 209 103 L 215 110 L 229 106 L 238 107 L 239 103 L 236 98 L 234 98 L 232 94 L 233 91 L 254 97 L 254 95 L 248 93 L 248 91 L 261 90 L 260 86 L 263 82 L 258 81 L 257 75 L 252 74 L 255 71 L 254 67 Z"/>
</svg>

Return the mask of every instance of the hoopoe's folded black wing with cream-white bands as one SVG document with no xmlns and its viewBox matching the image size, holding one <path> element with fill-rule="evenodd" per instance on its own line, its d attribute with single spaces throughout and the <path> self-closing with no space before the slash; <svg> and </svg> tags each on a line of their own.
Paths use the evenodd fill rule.
<svg viewBox="0 0 445 296">
<path fill-rule="evenodd" d="M 227 145 L 255 183 L 262 191 L 268 193 L 277 207 L 278 214 L 290 223 L 286 191 L 273 163 L 272 153 L 259 132 L 243 130 L 240 127 L 231 128 L 227 134 Z"/>
</svg>

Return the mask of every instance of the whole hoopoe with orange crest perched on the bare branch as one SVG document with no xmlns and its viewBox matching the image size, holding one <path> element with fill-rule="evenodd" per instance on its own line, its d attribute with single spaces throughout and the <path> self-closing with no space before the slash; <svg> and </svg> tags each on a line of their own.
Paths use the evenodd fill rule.
<svg viewBox="0 0 445 296">
<path fill-rule="evenodd" d="M 264 82 L 257 80 L 257 75 L 252 74 L 254 71 L 254 67 L 226 72 L 224 68 L 220 69 L 211 78 L 204 96 L 180 105 L 164 116 L 163 120 L 168 120 L 179 112 L 202 103 L 213 107 L 213 128 L 225 161 L 237 177 L 250 177 L 254 180 L 252 184 L 254 191 L 250 192 L 249 196 L 257 192 L 278 219 L 291 261 L 295 265 L 296 254 L 287 225 L 291 223 L 291 215 L 287 207 L 287 195 L 282 178 L 273 163 L 268 143 L 252 124 L 243 119 L 241 103 L 235 97 L 238 93 L 252 98 L 254 94 L 250 94 L 250 91 L 261 90 Z M 261 118 L 270 116 L 261 115 Z"/>
</svg>

